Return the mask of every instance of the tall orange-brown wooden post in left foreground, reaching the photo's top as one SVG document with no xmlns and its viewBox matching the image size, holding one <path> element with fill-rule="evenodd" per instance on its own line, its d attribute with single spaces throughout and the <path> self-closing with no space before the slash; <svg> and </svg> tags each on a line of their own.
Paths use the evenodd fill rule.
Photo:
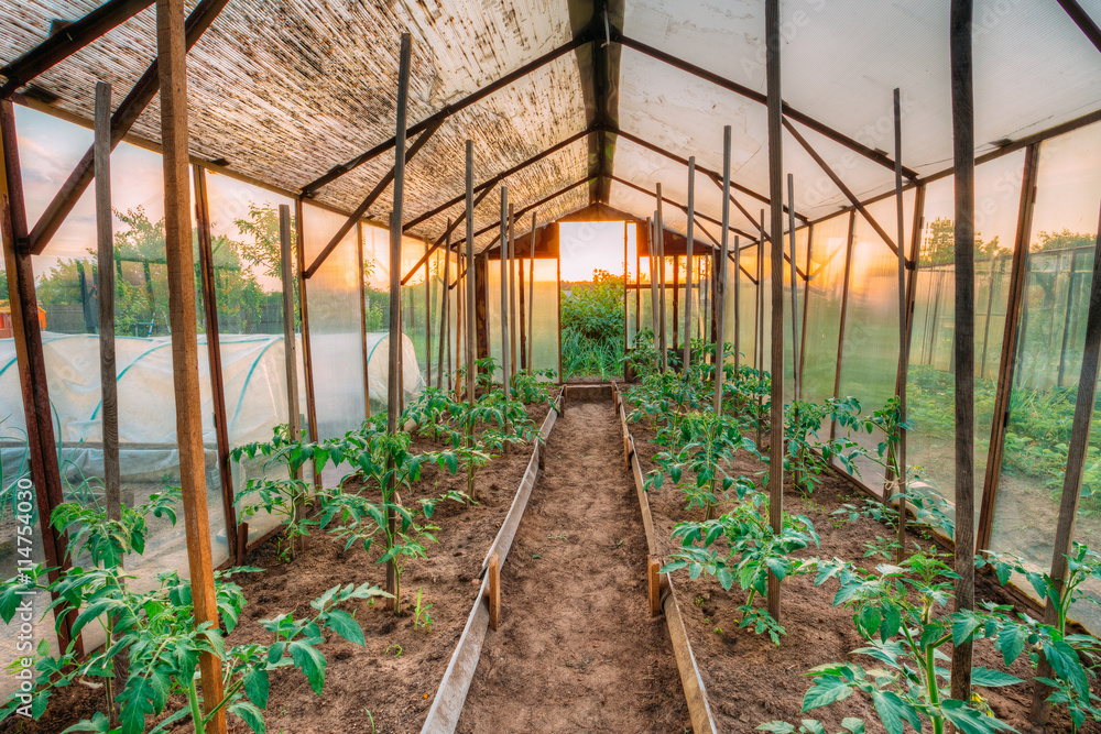
<svg viewBox="0 0 1101 734">
<path fill-rule="evenodd" d="M 164 234 L 172 329 L 172 377 L 176 403 L 179 485 L 183 490 L 187 566 L 195 624 L 218 627 L 210 555 L 210 518 L 204 471 L 203 410 L 195 318 L 195 263 L 192 251 L 190 190 L 187 180 L 187 48 L 183 0 L 156 0 L 156 50 L 161 80 L 161 144 L 164 166 Z M 211 734 L 226 734 L 221 660 L 199 657 L 203 708 L 214 712 Z M 217 711 L 216 711 L 217 708 Z"/>
</svg>

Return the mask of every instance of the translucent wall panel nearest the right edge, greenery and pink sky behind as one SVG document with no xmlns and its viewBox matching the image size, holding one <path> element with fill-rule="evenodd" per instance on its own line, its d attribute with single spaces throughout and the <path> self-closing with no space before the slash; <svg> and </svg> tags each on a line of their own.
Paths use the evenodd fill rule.
<svg viewBox="0 0 1101 734">
<path fill-rule="evenodd" d="M 1029 568 L 1050 568 L 1075 410 L 1089 292 L 1098 201 L 1101 200 L 1101 125 L 1040 145 L 1036 205 L 1022 307 L 1005 451 L 991 546 L 1022 556 Z M 1094 421 L 1076 525 L 1076 540 L 1101 547 L 1101 439 Z M 1022 584 L 1029 593 L 1027 583 Z M 1089 591 L 1101 591 L 1091 585 Z M 1101 628 L 1095 607 L 1071 616 Z"/>
</svg>

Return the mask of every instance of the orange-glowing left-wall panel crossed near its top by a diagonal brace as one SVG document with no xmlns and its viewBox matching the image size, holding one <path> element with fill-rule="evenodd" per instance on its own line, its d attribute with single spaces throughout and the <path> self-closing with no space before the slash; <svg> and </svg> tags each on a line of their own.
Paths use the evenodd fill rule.
<svg viewBox="0 0 1101 734">
<path fill-rule="evenodd" d="M 314 262 L 346 219 L 344 215 L 303 205 L 302 235 L 306 262 Z M 306 281 L 314 410 L 319 438 L 344 436 L 367 418 L 360 302 L 360 278 L 364 275 L 356 229 L 352 228 L 314 276 Z M 385 384 L 371 385 L 372 399 L 378 399 L 380 395 L 385 398 Z"/>
</svg>

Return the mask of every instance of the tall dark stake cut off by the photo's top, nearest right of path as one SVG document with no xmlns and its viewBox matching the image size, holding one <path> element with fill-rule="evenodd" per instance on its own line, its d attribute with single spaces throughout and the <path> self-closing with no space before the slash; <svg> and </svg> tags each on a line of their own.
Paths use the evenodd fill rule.
<svg viewBox="0 0 1101 734">
<path fill-rule="evenodd" d="M 768 519 L 783 530 L 784 515 L 784 163 L 780 48 L 780 0 L 765 0 L 768 91 L 768 198 L 772 200 L 772 436 L 768 439 Z M 792 286 L 795 286 L 793 281 Z M 780 579 L 768 574 L 768 614 L 780 617 Z"/>
</svg>

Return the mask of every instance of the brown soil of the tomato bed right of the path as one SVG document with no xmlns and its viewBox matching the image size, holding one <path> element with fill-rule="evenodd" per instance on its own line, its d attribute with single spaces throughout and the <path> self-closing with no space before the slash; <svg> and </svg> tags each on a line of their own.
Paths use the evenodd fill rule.
<svg viewBox="0 0 1101 734">
<path fill-rule="evenodd" d="M 655 468 L 652 460 L 661 448 L 651 442 L 654 430 L 648 420 L 632 424 L 630 429 L 645 474 Z M 764 463 L 745 454 L 738 459 L 734 467 L 734 471 L 746 476 L 765 470 Z M 864 544 L 875 540 L 877 536 L 890 536 L 893 530 L 871 519 L 859 518 L 850 523 L 847 515 L 843 521 L 832 516 L 831 513 L 841 504 L 853 503 L 865 495 L 838 474 L 829 473 L 824 480 L 810 497 L 805 497 L 791 484 L 785 487 L 785 510 L 808 516 L 821 536 L 820 549 L 810 548 L 799 555 L 837 557 L 873 568 L 877 561 L 863 558 Z M 648 497 L 658 548 L 668 554 L 677 546 L 671 538 L 674 525 L 686 519 L 699 521 L 702 513 L 699 510 L 685 512 L 683 493 L 667 482 L 661 490 L 650 492 Z M 923 547 L 930 545 L 929 540 L 911 533 L 909 547 L 914 543 Z M 857 634 L 851 614 L 832 605 L 837 590 L 833 582 L 815 588 L 814 579 L 808 576 L 784 582 L 782 623 L 787 635 L 776 647 L 765 636 L 738 628 L 737 607 L 745 603 L 745 594 L 737 585 L 726 592 L 713 578 L 700 577 L 693 581 L 686 571 L 675 573 L 688 637 L 711 711 L 722 731 L 751 732 L 759 724 L 774 720 L 797 724 L 804 717 L 799 713 L 803 695 L 810 687 L 805 673 L 816 666 L 859 660 L 874 667 L 870 665 L 873 662 L 870 658 L 851 655 L 851 650 L 863 647 L 865 643 Z M 1005 590 L 982 576 L 977 579 L 975 598 L 977 602 L 985 599 L 1001 604 L 1014 603 Z M 950 645 L 944 651 L 951 655 Z M 989 642 L 975 645 L 974 665 L 1004 669 L 1001 655 Z M 1031 668 L 1022 660 L 1009 672 L 1025 680 L 1032 679 Z M 982 689 L 981 695 L 1000 719 L 1027 732 L 1032 691 L 1031 684 L 1024 684 Z M 869 732 L 883 731 L 871 700 L 860 693 L 806 715 L 821 720 L 830 732 L 839 731 L 846 716 L 863 719 Z M 1069 732 L 1069 717 L 1061 711 L 1057 712 L 1047 731 Z M 1081 731 L 1098 732 L 1101 728 L 1087 723 Z"/>
</svg>

